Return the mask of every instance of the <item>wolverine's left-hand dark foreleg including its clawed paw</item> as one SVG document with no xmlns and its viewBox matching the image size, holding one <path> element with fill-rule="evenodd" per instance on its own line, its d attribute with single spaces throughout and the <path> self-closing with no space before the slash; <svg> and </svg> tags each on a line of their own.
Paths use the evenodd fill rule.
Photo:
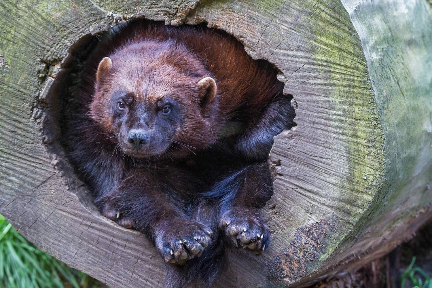
<svg viewBox="0 0 432 288">
<path fill-rule="evenodd" d="M 118 189 L 96 204 L 119 225 L 146 233 L 165 262 L 184 264 L 203 253 L 213 233 L 187 216 L 181 192 L 193 189 L 189 182 L 187 174 L 174 168 L 135 168 L 127 172 Z"/>
</svg>

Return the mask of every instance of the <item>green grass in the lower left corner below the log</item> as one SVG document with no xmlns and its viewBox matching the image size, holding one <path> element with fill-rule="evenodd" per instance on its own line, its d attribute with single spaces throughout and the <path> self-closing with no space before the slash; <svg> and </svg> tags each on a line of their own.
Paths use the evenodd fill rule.
<svg viewBox="0 0 432 288">
<path fill-rule="evenodd" d="M 42 252 L 0 215 L 0 287 L 106 287 Z"/>
</svg>

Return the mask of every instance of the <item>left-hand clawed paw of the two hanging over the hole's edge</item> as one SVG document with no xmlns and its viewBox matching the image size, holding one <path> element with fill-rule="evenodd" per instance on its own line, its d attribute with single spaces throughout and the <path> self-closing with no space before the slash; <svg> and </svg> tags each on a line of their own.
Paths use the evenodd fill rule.
<svg viewBox="0 0 432 288">
<path fill-rule="evenodd" d="M 199 257 L 211 243 L 213 231 L 204 224 L 172 219 L 156 228 L 155 245 L 166 263 L 183 265 Z"/>
</svg>

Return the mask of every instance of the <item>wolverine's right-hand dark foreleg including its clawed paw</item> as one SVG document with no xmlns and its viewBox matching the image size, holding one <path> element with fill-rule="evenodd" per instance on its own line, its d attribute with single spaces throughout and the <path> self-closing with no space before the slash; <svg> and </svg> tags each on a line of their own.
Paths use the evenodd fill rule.
<svg viewBox="0 0 432 288">
<path fill-rule="evenodd" d="M 259 210 L 273 194 L 268 163 L 248 165 L 217 182 L 210 194 L 221 199 L 219 229 L 236 247 L 262 252 L 270 233 Z"/>
</svg>

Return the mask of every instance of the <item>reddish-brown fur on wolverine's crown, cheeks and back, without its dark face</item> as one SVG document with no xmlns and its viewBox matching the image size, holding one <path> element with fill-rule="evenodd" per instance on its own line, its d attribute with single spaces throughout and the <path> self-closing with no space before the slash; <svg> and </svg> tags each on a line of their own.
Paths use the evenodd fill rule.
<svg viewBox="0 0 432 288">
<path fill-rule="evenodd" d="M 117 87 L 137 101 L 155 104 L 169 95 L 181 103 L 185 116 L 173 140 L 197 149 L 216 142 L 233 117 L 253 123 L 282 92 L 283 84 L 269 63 L 251 59 L 238 41 L 213 29 L 132 22 L 109 43 L 99 45 L 99 51 L 98 60 L 111 57 L 112 68 L 102 82 L 96 81 L 90 116 L 107 131 L 113 130 L 107 92 Z M 203 77 L 212 77 L 217 85 L 216 100 L 206 103 L 204 111 L 197 86 Z M 183 147 L 170 155 L 186 154 Z"/>
</svg>

